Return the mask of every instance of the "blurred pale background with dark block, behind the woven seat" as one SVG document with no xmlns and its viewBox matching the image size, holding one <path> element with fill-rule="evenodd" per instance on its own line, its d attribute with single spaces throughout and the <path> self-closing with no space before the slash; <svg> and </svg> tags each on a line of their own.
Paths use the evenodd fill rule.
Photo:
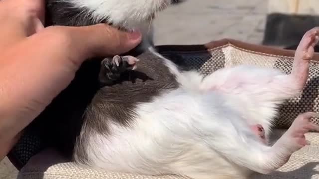
<svg viewBox="0 0 319 179">
<path fill-rule="evenodd" d="M 319 0 L 176 0 L 154 20 L 155 45 L 203 44 L 232 38 L 287 48 L 319 26 Z M 293 48 L 293 47 L 292 47 Z M 15 179 L 5 158 L 0 179 Z"/>
</svg>

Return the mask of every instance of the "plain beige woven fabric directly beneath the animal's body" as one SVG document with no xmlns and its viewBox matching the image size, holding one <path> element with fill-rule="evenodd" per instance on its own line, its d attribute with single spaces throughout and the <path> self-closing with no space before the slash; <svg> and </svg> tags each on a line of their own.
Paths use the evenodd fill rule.
<svg viewBox="0 0 319 179">
<path fill-rule="evenodd" d="M 283 131 L 274 131 L 278 138 Z M 311 141 L 295 152 L 288 163 L 270 175 L 253 174 L 251 179 L 319 179 L 319 134 L 308 133 Z M 52 150 L 37 154 L 20 171 L 18 179 L 188 179 L 183 176 L 146 176 L 92 170 L 66 162 Z"/>
</svg>

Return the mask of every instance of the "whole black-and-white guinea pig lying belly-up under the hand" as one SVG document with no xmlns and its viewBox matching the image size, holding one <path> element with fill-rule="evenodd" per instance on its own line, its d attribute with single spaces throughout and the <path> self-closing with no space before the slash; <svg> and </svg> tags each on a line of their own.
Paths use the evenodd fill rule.
<svg viewBox="0 0 319 179">
<path fill-rule="evenodd" d="M 147 29 L 168 0 L 48 1 L 53 24 L 112 23 Z M 29 126 L 70 160 L 91 168 L 194 179 L 245 179 L 270 173 L 308 144 L 315 113 L 296 118 L 268 145 L 277 107 L 300 95 L 319 28 L 301 40 L 291 74 L 239 65 L 202 76 L 152 46 L 138 55 L 90 60 Z"/>
</svg>

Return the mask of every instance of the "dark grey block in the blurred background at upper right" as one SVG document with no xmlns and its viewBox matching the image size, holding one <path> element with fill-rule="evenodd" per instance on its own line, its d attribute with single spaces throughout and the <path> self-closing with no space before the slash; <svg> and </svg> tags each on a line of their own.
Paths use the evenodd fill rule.
<svg viewBox="0 0 319 179">
<path fill-rule="evenodd" d="M 268 14 L 262 44 L 292 49 L 315 26 L 319 26 L 318 15 Z"/>
</svg>

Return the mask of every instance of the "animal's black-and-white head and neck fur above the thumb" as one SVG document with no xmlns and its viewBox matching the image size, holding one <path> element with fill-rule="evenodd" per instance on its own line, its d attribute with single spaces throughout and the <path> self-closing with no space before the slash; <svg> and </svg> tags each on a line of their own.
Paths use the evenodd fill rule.
<svg viewBox="0 0 319 179">
<path fill-rule="evenodd" d="M 172 0 L 47 0 L 46 3 L 53 24 L 107 23 L 127 31 L 140 31 L 142 43 L 152 45 L 152 19 Z M 150 44 L 144 45 L 145 49 Z"/>
</svg>

